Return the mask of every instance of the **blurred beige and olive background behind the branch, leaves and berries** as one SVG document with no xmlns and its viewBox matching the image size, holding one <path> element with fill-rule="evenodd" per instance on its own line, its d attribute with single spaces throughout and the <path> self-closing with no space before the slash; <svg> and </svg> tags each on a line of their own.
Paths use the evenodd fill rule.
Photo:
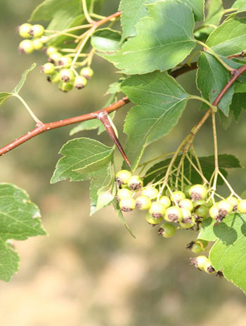
<svg viewBox="0 0 246 326">
<path fill-rule="evenodd" d="M 103 14 L 117 11 L 119 1 L 105 0 Z M 15 27 L 26 22 L 39 0 L 1 0 L 0 89 L 10 91 L 20 74 L 36 62 L 22 96 L 44 122 L 81 115 L 102 107 L 115 67 L 96 58 L 95 77 L 83 91 L 62 93 L 39 72 L 43 53 L 20 55 Z M 233 1 L 225 1 L 226 8 Z M 196 93 L 195 72 L 179 77 L 186 91 Z M 124 143 L 122 123 L 129 105 L 117 112 L 115 124 Z M 191 101 L 181 122 L 166 138 L 150 146 L 143 159 L 176 149 L 198 122 L 200 103 Z M 218 127 L 219 152 L 236 155 L 246 164 L 246 124 L 225 131 Z M 17 99 L 0 107 L 0 145 L 34 128 Z M 49 181 L 60 158 L 58 151 L 71 137 L 71 126 L 44 133 L 0 159 L 1 182 L 14 183 L 39 205 L 48 237 L 15 242 L 20 271 L 9 283 L 0 282 L 0 318 L 4 326 L 176 326 L 246 325 L 245 295 L 224 279 L 189 265 L 186 244 L 195 234 L 179 232 L 165 240 L 145 223 L 144 215 L 126 216 L 136 240 L 129 236 L 109 207 L 89 216 L 89 183 Z M 77 135 L 76 135 L 77 136 Z M 111 145 L 106 133 L 84 131 L 78 136 Z M 212 131 L 207 122 L 195 140 L 199 155 L 212 155 Z M 116 152 L 117 168 L 122 158 Z M 229 181 L 245 190 L 245 170 L 232 170 Z M 221 189 L 224 192 L 224 189 Z"/>
</svg>

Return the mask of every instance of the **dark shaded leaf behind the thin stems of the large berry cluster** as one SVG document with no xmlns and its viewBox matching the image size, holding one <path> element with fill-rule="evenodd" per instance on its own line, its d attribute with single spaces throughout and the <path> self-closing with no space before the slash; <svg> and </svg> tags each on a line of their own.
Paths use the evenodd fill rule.
<svg viewBox="0 0 246 326">
<path fill-rule="evenodd" d="M 193 163 L 197 166 L 195 157 L 190 157 L 193 161 Z M 174 167 L 177 167 L 179 165 L 181 159 L 181 155 L 179 155 L 176 158 L 176 161 L 174 163 Z M 232 169 L 232 168 L 241 168 L 242 165 L 240 164 L 239 160 L 233 156 L 228 154 L 220 154 L 218 156 L 219 160 L 219 167 L 221 170 L 221 173 L 224 174 L 225 177 L 227 177 L 227 172 L 225 169 Z M 167 167 L 170 163 L 171 159 L 165 159 L 162 162 L 158 162 L 153 165 L 153 167 L 150 167 L 148 171 L 145 173 L 144 178 L 144 184 L 147 185 L 150 182 L 157 182 L 161 178 L 163 178 L 167 172 Z M 207 157 L 199 157 L 200 166 L 202 167 L 202 172 L 209 180 L 214 172 L 214 155 L 207 156 Z M 202 183 L 202 178 L 198 174 L 197 171 L 190 165 L 190 162 L 188 159 L 184 159 L 183 162 L 183 174 L 188 178 L 188 180 L 193 183 Z M 176 181 L 176 174 L 173 174 L 173 181 Z M 224 181 L 219 177 L 218 178 L 218 184 L 222 185 Z"/>
</svg>

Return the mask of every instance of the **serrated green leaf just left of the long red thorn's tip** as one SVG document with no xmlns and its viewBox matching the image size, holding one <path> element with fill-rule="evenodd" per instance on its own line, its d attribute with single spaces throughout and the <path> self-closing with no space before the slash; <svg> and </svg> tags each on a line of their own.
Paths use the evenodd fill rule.
<svg viewBox="0 0 246 326">
<path fill-rule="evenodd" d="M 113 148 L 90 138 L 75 138 L 68 141 L 59 152 L 64 156 L 56 164 L 51 183 L 65 179 L 89 180 L 93 170 L 103 168 L 112 160 L 112 152 Z"/>
</svg>

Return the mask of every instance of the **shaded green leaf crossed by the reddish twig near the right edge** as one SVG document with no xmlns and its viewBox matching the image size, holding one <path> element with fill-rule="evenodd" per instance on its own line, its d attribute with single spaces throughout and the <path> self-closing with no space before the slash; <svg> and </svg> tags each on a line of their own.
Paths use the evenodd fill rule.
<svg viewBox="0 0 246 326">
<path fill-rule="evenodd" d="M 214 56 L 206 52 L 201 53 L 198 60 L 197 84 L 206 100 L 213 103 L 229 79 L 231 79 L 230 72 Z M 233 93 L 234 85 L 228 89 L 219 101 L 218 107 L 226 117 L 228 117 L 230 111 Z"/>
</svg>

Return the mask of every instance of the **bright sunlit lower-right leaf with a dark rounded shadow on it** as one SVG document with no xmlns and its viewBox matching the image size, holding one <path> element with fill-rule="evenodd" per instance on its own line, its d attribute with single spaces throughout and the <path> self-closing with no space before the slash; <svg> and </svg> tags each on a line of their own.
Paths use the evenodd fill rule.
<svg viewBox="0 0 246 326">
<path fill-rule="evenodd" d="M 202 223 L 200 239 L 216 241 L 209 252 L 215 270 L 246 293 L 246 215 L 230 214 L 216 226 L 212 219 Z"/>
</svg>

